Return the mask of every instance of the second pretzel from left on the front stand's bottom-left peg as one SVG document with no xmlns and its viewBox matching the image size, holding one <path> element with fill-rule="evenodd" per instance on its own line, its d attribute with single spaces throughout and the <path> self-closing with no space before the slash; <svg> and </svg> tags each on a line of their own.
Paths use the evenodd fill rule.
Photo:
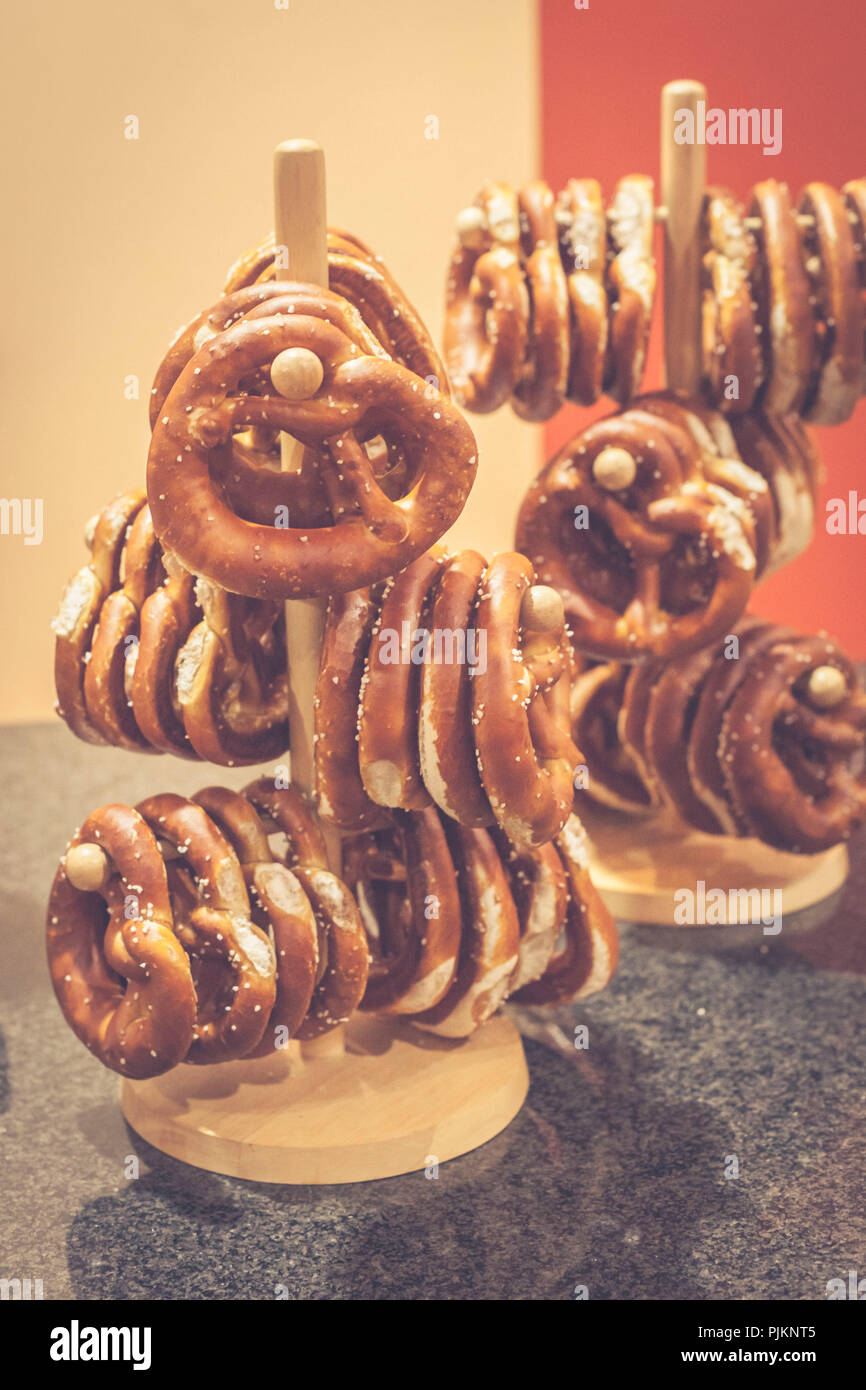
<svg viewBox="0 0 866 1390">
<path fill-rule="evenodd" d="M 175 934 L 190 956 L 197 1015 L 188 1062 L 228 1062 L 261 1040 L 277 994 L 274 948 L 250 917 L 238 858 L 202 806 L 164 792 L 136 810 L 177 852 Z"/>
</svg>

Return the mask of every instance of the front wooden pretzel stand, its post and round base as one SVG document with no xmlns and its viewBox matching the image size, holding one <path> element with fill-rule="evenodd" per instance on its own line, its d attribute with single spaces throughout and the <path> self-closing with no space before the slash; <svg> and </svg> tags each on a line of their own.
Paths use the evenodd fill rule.
<svg viewBox="0 0 866 1390">
<path fill-rule="evenodd" d="M 324 153 L 311 140 L 285 142 L 274 171 L 277 245 L 288 250 L 278 275 L 327 286 Z M 296 378 L 289 373 L 278 389 L 303 393 L 309 366 L 293 363 Z M 304 466 L 303 448 L 285 435 L 282 466 Z M 324 607 L 318 598 L 286 603 L 292 780 L 304 792 Z M 339 834 L 327 842 L 339 872 Z M 520 1034 L 502 1015 L 453 1042 L 357 1013 L 274 1056 L 124 1080 L 121 1105 L 147 1143 L 196 1168 L 268 1183 L 352 1183 L 477 1148 L 510 1123 L 527 1090 Z"/>
</svg>

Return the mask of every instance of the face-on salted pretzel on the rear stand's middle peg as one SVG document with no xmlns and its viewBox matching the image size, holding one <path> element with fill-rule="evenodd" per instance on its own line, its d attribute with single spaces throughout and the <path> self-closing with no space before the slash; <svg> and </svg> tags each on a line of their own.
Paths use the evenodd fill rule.
<svg viewBox="0 0 866 1390">
<path fill-rule="evenodd" d="M 541 471 L 518 550 L 559 589 L 578 651 L 638 660 L 730 630 L 755 581 L 755 538 L 691 441 L 639 407 L 601 420 Z"/>
</svg>

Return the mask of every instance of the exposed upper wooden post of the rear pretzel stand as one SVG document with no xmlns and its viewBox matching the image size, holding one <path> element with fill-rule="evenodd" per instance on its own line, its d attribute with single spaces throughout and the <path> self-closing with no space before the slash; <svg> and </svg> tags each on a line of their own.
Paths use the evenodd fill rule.
<svg viewBox="0 0 866 1390">
<path fill-rule="evenodd" d="M 664 217 L 664 368 L 667 385 L 694 392 L 701 379 L 701 202 L 706 146 L 678 145 L 677 111 L 706 101 L 701 82 L 662 88 L 662 203 Z M 692 125 L 696 129 L 696 121 Z"/>
</svg>

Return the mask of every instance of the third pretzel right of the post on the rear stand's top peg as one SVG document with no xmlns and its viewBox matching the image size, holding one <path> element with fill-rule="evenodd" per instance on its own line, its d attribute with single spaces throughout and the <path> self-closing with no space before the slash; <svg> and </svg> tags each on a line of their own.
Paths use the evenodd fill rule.
<svg viewBox="0 0 866 1390">
<path fill-rule="evenodd" d="M 853 411 L 863 384 L 866 313 L 853 232 L 842 195 L 827 183 L 808 183 L 799 211 L 810 218 L 802 242 L 816 332 L 803 409 L 813 424 L 837 425 Z"/>
</svg>

